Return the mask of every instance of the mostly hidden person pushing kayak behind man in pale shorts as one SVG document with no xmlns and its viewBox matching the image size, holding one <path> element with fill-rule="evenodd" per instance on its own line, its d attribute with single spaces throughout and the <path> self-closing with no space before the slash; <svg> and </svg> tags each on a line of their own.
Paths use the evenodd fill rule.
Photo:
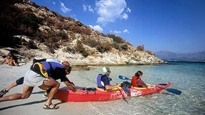
<svg viewBox="0 0 205 115">
<path fill-rule="evenodd" d="M 35 62 L 41 62 L 41 61 L 46 61 L 46 62 L 56 62 L 56 63 L 60 63 L 62 64 L 63 66 L 66 66 L 66 65 L 70 65 L 68 61 L 63 61 L 62 63 L 58 60 L 55 60 L 55 59 L 50 59 L 50 58 L 43 58 L 43 59 L 34 59 L 33 60 L 33 64 Z M 31 66 L 32 67 L 32 66 Z M 18 85 L 22 85 L 23 84 L 23 81 L 24 81 L 24 77 L 21 77 L 19 79 L 17 79 L 15 82 L 11 83 L 8 87 L 2 89 L 0 91 L 0 97 L 4 96 L 6 93 L 9 92 L 9 90 L 11 90 L 12 88 L 18 86 Z M 71 82 L 73 85 L 74 83 Z M 46 90 L 45 93 L 44 93 L 44 96 L 47 97 L 48 96 L 48 93 L 49 93 L 49 90 Z"/>
</svg>

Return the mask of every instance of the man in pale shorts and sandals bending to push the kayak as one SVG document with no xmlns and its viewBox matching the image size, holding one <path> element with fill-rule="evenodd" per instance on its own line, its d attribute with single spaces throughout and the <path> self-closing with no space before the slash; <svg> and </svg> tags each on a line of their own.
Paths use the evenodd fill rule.
<svg viewBox="0 0 205 115">
<path fill-rule="evenodd" d="M 52 104 L 52 99 L 60 87 L 60 83 L 56 80 L 60 79 L 61 82 L 65 83 L 68 89 L 73 92 L 76 91 L 75 87 L 66 77 L 70 72 L 71 67 L 69 65 L 64 67 L 62 64 L 56 62 L 36 62 L 33 64 L 31 70 L 28 70 L 24 76 L 23 92 L 1 97 L 0 102 L 29 98 L 33 88 L 39 86 L 43 90 L 50 89 L 50 93 L 43 108 L 58 109 L 59 106 Z"/>
</svg>

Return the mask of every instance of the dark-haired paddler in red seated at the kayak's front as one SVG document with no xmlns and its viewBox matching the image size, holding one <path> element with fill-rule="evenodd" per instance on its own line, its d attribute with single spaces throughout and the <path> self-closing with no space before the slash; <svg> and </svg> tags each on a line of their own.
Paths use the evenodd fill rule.
<svg viewBox="0 0 205 115">
<path fill-rule="evenodd" d="M 131 85 L 133 87 L 146 87 L 146 88 L 148 88 L 148 86 L 144 83 L 144 81 L 141 80 L 142 75 L 143 75 L 142 71 L 137 71 L 135 73 L 135 75 L 132 77 L 132 80 L 131 80 Z"/>
</svg>

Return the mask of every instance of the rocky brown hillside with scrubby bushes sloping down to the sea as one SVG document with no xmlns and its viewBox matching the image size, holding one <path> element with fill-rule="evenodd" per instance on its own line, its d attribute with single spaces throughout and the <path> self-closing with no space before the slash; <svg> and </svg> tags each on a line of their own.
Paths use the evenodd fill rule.
<svg viewBox="0 0 205 115">
<path fill-rule="evenodd" d="M 0 46 L 12 47 L 27 60 L 57 58 L 73 65 L 164 63 L 143 45 L 134 47 L 33 2 L 1 0 L 0 10 Z"/>
</svg>

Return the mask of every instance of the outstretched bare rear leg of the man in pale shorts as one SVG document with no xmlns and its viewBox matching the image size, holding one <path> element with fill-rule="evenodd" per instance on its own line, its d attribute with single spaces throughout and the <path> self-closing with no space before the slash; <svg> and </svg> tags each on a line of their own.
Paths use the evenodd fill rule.
<svg viewBox="0 0 205 115">
<path fill-rule="evenodd" d="M 15 93 L 15 94 L 11 94 L 11 95 L 2 97 L 2 98 L 0 98 L 0 102 L 17 100 L 17 99 L 26 99 L 31 95 L 32 91 L 33 91 L 33 87 L 24 85 L 23 93 Z"/>
</svg>

